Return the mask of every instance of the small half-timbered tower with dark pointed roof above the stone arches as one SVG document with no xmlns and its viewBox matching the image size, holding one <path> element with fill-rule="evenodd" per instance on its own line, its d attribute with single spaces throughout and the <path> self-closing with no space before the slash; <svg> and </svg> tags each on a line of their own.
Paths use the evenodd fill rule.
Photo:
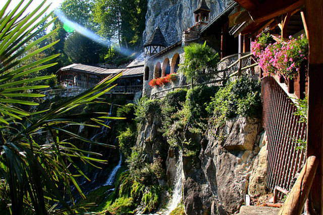
<svg viewBox="0 0 323 215">
<path fill-rule="evenodd" d="M 167 47 L 167 42 L 158 25 L 143 47 L 145 50 L 145 57 L 154 55 Z"/>
</svg>

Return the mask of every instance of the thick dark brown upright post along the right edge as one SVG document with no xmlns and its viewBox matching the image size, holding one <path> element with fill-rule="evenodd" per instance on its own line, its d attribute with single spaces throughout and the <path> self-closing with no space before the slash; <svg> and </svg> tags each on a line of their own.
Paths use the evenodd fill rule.
<svg viewBox="0 0 323 215">
<path fill-rule="evenodd" d="M 305 5 L 309 43 L 307 156 L 318 160 L 309 201 L 311 213 L 323 214 L 323 1 L 306 0 Z"/>
</svg>

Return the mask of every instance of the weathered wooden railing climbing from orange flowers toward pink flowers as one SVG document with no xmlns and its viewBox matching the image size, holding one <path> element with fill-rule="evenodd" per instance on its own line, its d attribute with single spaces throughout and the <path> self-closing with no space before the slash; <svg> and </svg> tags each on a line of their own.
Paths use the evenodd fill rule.
<svg viewBox="0 0 323 215">
<path fill-rule="evenodd" d="M 247 58 L 249 58 L 249 60 L 245 60 L 245 65 L 243 65 L 244 59 L 247 59 Z M 214 83 L 219 83 L 219 82 L 226 82 L 228 79 L 230 79 L 234 76 L 240 77 L 243 75 L 242 71 L 247 70 L 249 68 L 253 68 L 258 65 L 258 63 L 253 63 L 251 65 L 247 65 L 248 62 L 251 61 L 251 59 L 253 59 L 253 54 L 252 53 L 246 54 L 246 55 L 238 58 L 236 61 L 231 63 L 225 69 L 208 71 L 207 73 L 202 74 L 201 75 L 202 79 L 204 78 L 204 80 L 207 80 L 207 81 L 202 81 L 200 83 L 193 83 L 193 84 L 188 84 L 188 85 L 181 85 L 181 86 L 176 86 L 176 87 L 173 87 L 170 89 L 160 90 L 158 92 L 151 94 L 150 98 L 151 99 L 161 99 L 161 98 L 166 97 L 166 95 L 158 96 L 158 94 L 165 94 L 167 92 L 171 92 L 176 89 L 184 89 L 184 88 L 191 88 L 191 87 L 200 86 L 200 85 L 209 85 L 209 84 L 214 84 Z M 236 65 L 238 65 L 237 71 L 235 71 L 234 73 L 229 73 L 229 71 Z"/>
</svg>

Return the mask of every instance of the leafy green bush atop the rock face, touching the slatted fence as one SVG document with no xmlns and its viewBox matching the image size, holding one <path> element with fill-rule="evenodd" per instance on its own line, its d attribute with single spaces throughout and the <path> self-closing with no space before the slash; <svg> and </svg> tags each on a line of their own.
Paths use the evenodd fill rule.
<svg viewBox="0 0 323 215">
<path fill-rule="evenodd" d="M 207 105 L 216 126 L 222 126 L 227 118 L 239 115 L 259 117 L 261 114 L 260 84 L 243 77 L 221 88 Z"/>
</svg>

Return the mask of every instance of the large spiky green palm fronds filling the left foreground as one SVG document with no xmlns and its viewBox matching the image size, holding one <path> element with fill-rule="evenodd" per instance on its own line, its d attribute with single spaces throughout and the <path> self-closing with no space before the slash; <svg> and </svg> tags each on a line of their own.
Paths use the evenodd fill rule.
<svg viewBox="0 0 323 215">
<path fill-rule="evenodd" d="M 11 3 L 8 0 L 4 8 L 0 9 L 0 211 L 15 215 L 77 214 L 78 208 L 86 205 L 70 207 L 63 197 L 65 194 L 74 202 L 71 184 L 85 197 L 75 177 L 86 176 L 74 160 L 79 159 L 90 164 L 103 161 L 87 157 L 87 154 L 98 154 L 78 149 L 73 145 L 73 140 L 79 139 L 87 144 L 105 147 L 113 146 L 81 137 L 68 130 L 68 127 L 99 127 L 83 124 L 80 118 L 102 124 L 102 119 L 112 117 L 107 113 L 75 114 L 71 110 L 84 104 L 101 103 L 101 100 L 96 99 L 114 87 L 112 83 L 121 74 L 105 79 L 94 88 L 56 108 L 28 112 L 23 105 L 38 105 L 34 99 L 44 95 L 37 90 L 48 87 L 36 85 L 35 82 L 48 80 L 53 76 L 22 77 L 55 65 L 56 63 L 48 62 L 60 54 L 32 60 L 33 56 L 58 43 L 54 41 L 42 48 L 35 48 L 41 41 L 57 33 L 57 30 L 32 41 L 35 35 L 54 20 L 37 29 L 51 16 L 49 14 L 37 21 L 49 6 L 42 9 L 45 4 L 43 1 L 34 11 L 24 15 L 32 1 L 24 4 L 25 2 L 22 0 L 11 12 L 7 12 Z M 26 63 L 28 60 L 31 61 Z M 46 142 L 37 142 L 34 138 L 40 131 L 48 134 Z M 66 139 L 60 139 L 62 133 Z M 77 170 L 77 175 L 71 172 L 71 168 Z M 58 203 L 63 207 L 58 208 Z"/>
</svg>

